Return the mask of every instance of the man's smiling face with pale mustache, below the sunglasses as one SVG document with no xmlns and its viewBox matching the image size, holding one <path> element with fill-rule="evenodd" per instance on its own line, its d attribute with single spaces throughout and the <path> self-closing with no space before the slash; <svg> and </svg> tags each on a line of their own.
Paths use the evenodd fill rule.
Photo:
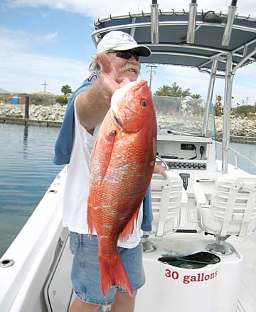
<svg viewBox="0 0 256 312">
<path fill-rule="evenodd" d="M 132 56 L 128 60 L 117 56 L 117 53 L 107 53 L 112 66 L 117 71 L 118 78 L 128 78 L 131 81 L 137 80 L 141 64 Z"/>
</svg>

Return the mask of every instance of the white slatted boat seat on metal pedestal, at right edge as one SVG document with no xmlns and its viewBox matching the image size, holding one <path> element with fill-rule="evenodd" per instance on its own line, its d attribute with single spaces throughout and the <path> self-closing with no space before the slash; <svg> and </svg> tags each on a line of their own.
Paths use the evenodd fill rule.
<svg viewBox="0 0 256 312">
<path fill-rule="evenodd" d="M 207 250 L 217 254 L 231 254 L 226 243 L 230 235 L 244 237 L 256 229 L 256 176 L 220 175 L 209 199 L 200 184 L 193 184 L 198 224 L 215 236 L 215 243 Z"/>
</svg>

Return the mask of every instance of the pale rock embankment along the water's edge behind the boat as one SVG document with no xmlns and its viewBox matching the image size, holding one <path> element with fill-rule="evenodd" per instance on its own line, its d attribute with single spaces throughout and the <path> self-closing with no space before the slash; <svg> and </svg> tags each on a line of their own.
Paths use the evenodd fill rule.
<svg viewBox="0 0 256 312">
<path fill-rule="evenodd" d="M 63 117 L 65 114 L 66 105 L 30 105 L 29 106 L 29 120 L 30 121 L 47 121 L 55 123 L 57 126 L 61 125 Z M 23 120 L 25 117 L 25 105 L 13 105 L 13 104 L 0 104 L 0 119 L 2 122 L 7 120 Z M 4 121 L 3 121 L 4 120 Z M 182 130 L 186 131 L 186 128 L 191 129 L 191 121 L 193 123 L 193 128 L 195 132 L 200 132 L 202 124 L 196 118 L 187 118 L 186 120 L 178 117 L 172 116 L 171 122 L 167 115 L 158 115 L 158 125 L 160 128 L 175 129 L 176 126 L 182 125 Z M 8 122 L 8 121 L 7 121 Z M 39 123 L 38 123 L 39 124 Z M 43 124 L 43 123 L 42 123 Z M 187 126 L 186 126 L 187 125 Z M 215 129 L 217 137 L 222 137 L 223 133 L 223 118 L 215 118 Z M 240 137 L 246 139 L 255 139 L 256 141 L 256 120 L 241 118 L 231 116 L 230 123 L 230 135 L 233 137 Z"/>
</svg>

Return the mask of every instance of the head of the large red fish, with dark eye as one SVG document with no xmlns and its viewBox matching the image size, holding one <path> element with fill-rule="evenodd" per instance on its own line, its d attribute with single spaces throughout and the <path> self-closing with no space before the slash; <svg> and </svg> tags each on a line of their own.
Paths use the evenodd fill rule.
<svg viewBox="0 0 256 312">
<path fill-rule="evenodd" d="M 117 89 L 111 99 L 114 123 L 123 132 L 138 132 L 145 125 L 156 128 L 156 113 L 146 81 L 134 81 Z"/>
</svg>

